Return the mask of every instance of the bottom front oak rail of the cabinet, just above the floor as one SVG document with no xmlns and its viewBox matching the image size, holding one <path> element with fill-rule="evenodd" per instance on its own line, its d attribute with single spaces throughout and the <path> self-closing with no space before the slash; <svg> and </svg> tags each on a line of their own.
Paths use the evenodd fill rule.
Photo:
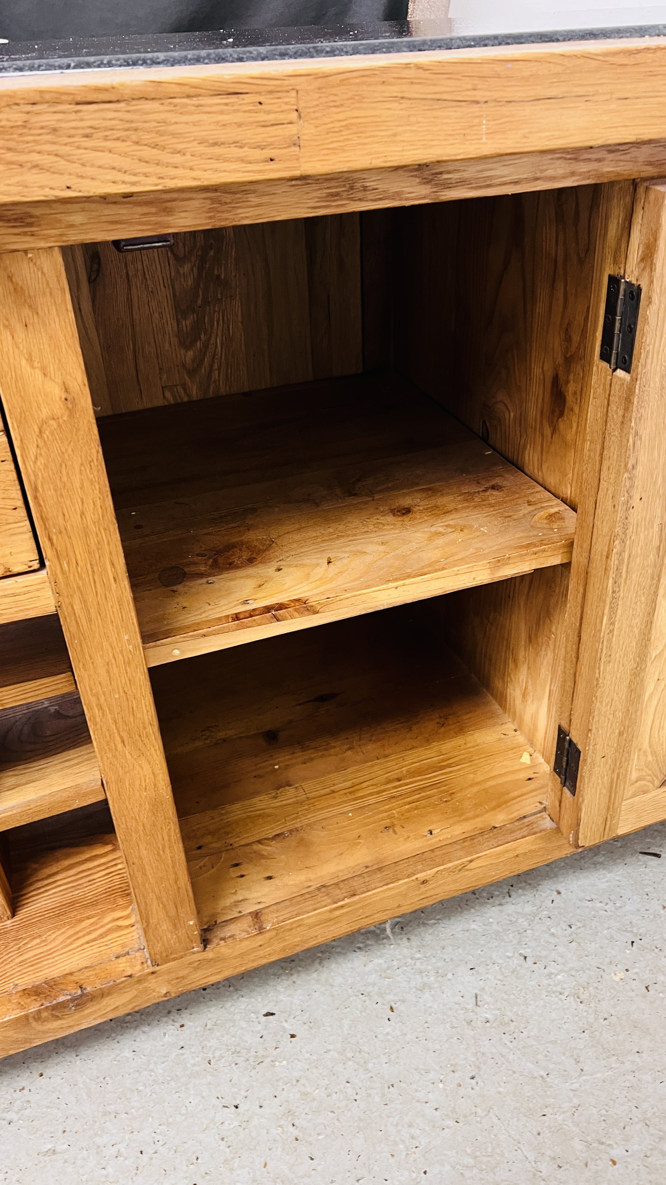
<svg viewBox="0 0 666 1185">
<path fill-rule="evenodd" d="M 33 991 L 13 993 L 2 1001 L 0 1056 L 283 959 L 386 917 L 517 876 L 572 851 L 544 814 L 447 847 L 448 852 L 440 854 L 443 861 L 440 867 L 433 866 L 428 853 L 397 884 L 358 885 L 357 891 L 365 891 L 351 899 L 309 902 L 314 912 L 295 918 L 282 916 L 280 924 L 270 929 L 258 933 L 255 929 L 238 941 L 218 941 L 200 954 L 143 974 L 134 974 L 134 965 L 119 959 L 115 981 L 113 968 L 104 965 L 78 976 L 39 985 Z"/>
</svg>

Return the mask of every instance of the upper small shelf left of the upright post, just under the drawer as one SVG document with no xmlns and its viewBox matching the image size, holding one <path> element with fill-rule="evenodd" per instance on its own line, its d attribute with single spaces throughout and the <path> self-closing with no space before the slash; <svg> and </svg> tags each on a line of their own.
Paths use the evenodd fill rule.
<svg viewBox="0 0 666 1185">
<path fill-rule="evenodd" d="M 0 710 L 75 690 L 63 630 L 52 614 L 0 626 Z"/>
</svg>

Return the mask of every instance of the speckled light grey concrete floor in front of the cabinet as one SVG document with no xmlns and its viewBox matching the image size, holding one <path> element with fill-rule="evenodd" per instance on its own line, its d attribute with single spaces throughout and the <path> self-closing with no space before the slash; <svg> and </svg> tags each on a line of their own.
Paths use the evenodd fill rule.
<svg viewBox="0 0 666 1185">
<path fill-rule="evenodd" d="M 662 1185 L 665 925 L 659 825 L 15 1055 L 0 1179 Z"/>
</svg>

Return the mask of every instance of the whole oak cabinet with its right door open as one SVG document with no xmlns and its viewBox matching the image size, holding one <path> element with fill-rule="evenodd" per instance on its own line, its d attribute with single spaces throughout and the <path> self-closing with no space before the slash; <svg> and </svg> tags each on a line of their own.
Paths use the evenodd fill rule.
<svg viewBox="0 0 666 1185">
<path fill-rule="evenodd" d="M 174 87 L 137 71 L 95 116 L 113 139 L 114 94 L 143 102 L 127 199 L 68 110 L 76 193 L 36 130 L 0 201 L 4 1052 L 666 818 L 654 121 L 579 148 L 532 82 L 539 152 L 511 114 L 449 158 L 415 72 L 422 148 L 377 164 L 385 108 L 337 162 L 307 85 L 348 64 L 308 63 L 300 174 L 237 132 L 220 179 L 216 69 L 181 78 L 200 109 L 169 91 L 181 172 L 136 148 Z M 235 117 L 284 162 L 280 77 L 248 68 Z"/>
</svg>

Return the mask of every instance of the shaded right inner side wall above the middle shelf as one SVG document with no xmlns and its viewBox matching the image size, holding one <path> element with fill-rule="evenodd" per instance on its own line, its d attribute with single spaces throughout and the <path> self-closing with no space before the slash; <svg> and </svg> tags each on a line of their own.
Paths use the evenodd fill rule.
<svg viewBox="0 0 666 1185">
<path fill-rule="evenodd" d="M 398 369 L 574 508 L 598 201 L 582 186 L 405 211 L 396 286 Z"/>
</svg>

